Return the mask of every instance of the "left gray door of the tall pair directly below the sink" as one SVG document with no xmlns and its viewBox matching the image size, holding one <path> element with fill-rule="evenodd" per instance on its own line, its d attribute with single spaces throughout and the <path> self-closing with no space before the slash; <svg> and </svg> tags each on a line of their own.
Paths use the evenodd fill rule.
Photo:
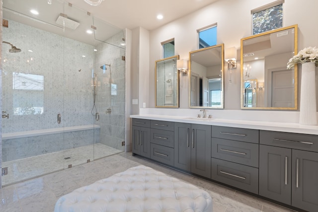
<svg viewBox="0 0 318 212">
<path fill-rule="evenodd" d="M 190 130 L 191 124 L 174 123 L 174 166 L 185 171 L 191 170 Z"/>
</svg>

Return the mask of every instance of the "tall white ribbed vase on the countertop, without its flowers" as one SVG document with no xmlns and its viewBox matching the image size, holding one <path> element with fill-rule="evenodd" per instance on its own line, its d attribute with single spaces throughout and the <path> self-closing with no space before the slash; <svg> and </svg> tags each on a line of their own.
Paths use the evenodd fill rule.
<svg viewBox="0 0 318 212">
<path fill-rule="evenodd" d="M 317 125 L 315 63 L 302 64 L 299 124 Z"/>
</svg>

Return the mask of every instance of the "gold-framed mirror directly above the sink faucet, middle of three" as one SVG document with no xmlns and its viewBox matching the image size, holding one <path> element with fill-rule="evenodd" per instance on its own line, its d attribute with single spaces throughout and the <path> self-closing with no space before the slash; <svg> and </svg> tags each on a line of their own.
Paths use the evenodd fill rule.
<svg viewBox="0 0 318 212">
<path fill-rule="evenodd" d="M 190 108 L 223 108 L 224 44 L 189 53 Z"/>
</svg>

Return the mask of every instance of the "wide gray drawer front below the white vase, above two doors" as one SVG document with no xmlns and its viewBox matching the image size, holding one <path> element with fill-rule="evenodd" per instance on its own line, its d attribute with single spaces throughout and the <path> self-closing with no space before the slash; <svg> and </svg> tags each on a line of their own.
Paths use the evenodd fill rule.
<svg viewBox="0 0 318 212">
<path fill-rule="evenodd" d="M 318 152 L 317 135 L 261 130 L 259 132 L 259 142 L 266 145 Z"/>
</svg>

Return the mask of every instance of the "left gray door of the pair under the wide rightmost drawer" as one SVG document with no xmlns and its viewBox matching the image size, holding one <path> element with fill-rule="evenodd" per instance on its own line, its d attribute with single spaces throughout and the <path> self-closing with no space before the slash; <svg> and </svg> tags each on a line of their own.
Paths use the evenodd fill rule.
<svg viewBox="0 0 318 212">
<path fill-rule="evenodd" d="M 259 195 L 291 204 L 292 150 L 259 145 Z"/>
</svg>

